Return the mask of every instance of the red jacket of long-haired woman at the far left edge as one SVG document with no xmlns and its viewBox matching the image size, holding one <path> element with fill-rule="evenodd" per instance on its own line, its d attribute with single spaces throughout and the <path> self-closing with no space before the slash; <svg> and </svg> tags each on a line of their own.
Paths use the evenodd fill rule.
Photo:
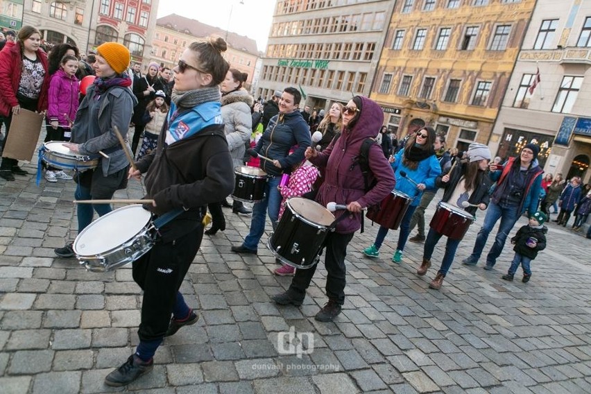
<svg viewBox="0 0 591 394">
<path fill-rule="evenodd" d="M 47 64 L 47 55 L 42 49 L 37 49 L 37 59 L 40 60 L 45 76 L 43 85 L 39 93 L 37 111 L 41 112 L 47 109 L 47 90 L 49 89 L 49 65 Z M 8 44 L 0 51 L 0 116 L 8 117 L 12 112 L 12 107 L 19 105 L 17 92 L 22 76 L 22 53 L 19 44 Z"/>
</svg>

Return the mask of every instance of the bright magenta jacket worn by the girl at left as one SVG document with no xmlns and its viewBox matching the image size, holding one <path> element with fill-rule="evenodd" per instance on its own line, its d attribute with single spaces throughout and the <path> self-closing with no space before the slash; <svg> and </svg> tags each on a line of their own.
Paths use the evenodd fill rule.
<svg viewBox="0 0 591 394">
<path fill-rule="evenodd" d="M 69 76 L 62 69 L 55 71 L 49 82 L 49 121 L 58 121 L 60 126 L 69 127 L 70 121 L 76 119 L 79 92 L 80 83 L 76 76 Z"/>
</svg>

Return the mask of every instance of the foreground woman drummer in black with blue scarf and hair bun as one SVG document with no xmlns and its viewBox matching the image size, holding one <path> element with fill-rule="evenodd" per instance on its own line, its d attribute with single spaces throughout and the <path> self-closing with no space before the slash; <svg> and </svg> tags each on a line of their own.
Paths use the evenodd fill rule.
<svg viewBox="0 0 591 394">
<path fill-rule="evenodd" d="M 133 280 L 144 291 L 139 345 L 105 378 L 109 386 L 125 386 L 150 372 L 164 336 L 199 318 L 178 289 L 203 239 L 207 204 L 225 198 L 234 187 L 218 87 L 230 68 L 221 54 L 226 49 L 220 37 L 209 38 L 193 42 L 180 55 L 171 110 L 157 148 L 129 171 L 137 179 L 146 174 L 146 197 L 154 200 L 146 209 L 157 216 L 181 213 L 160 227 L 153 248 L 133 262 Z"/>
</svg>

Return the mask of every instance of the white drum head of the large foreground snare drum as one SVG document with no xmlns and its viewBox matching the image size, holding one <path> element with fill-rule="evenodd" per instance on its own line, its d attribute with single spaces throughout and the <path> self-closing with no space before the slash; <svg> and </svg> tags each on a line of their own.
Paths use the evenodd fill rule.
<svg viewBox="0 0 591 394">
<path fill-rule="evenodd" d="M 76 255 L 94 256 L 108 252 L 135 237 L 152 214 L 142 205 L 128 205 L 101 216 L 82 230 L 74 240 Z"/>
</svg>

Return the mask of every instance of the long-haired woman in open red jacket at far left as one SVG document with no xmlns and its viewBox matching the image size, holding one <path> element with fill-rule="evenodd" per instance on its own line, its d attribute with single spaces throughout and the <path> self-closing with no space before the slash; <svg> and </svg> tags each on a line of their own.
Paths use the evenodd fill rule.
<svg viewBox="0 0 591 394">
<path fill-rule="evenodd" d="M 49 72 L 47 55 L 40 44 L 40 31 L 33 26 L 23 26 L 17 42 L 7 43 L 0 51 L 0 116 L 6 125 L 5 142 L 8 141 L 12 114 L 19 114 L 22 108 L 33 112 L 47 110 Z M 28 173 L 19 167 L 18 160 L 2 157 L 0 177 L 15 180 L 13 174 Z"/>
</svg>

